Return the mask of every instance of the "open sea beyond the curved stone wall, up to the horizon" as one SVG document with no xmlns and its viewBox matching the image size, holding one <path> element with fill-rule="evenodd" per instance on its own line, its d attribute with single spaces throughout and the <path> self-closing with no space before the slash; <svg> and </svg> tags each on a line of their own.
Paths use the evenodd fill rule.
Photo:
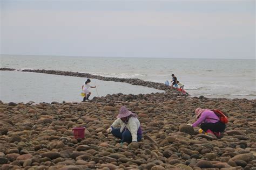
<svg viewBox="0 0 256 170">
<path fill-rule="evenodd" d="M 53 69 L 162 82 L 174 73 L 191 96 L 256 98 L 255 60 L 1 55 L 1 67 Z"/>
</svg>

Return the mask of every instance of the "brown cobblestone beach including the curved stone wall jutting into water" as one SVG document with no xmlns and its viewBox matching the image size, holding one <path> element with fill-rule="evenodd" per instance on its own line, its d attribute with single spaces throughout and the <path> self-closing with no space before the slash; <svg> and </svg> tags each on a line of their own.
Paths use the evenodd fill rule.
<svg viewBox="0 0 256 170">
<path fill-rule="evenodd" d="M 113 94 L 90 102 L 0 102 L 0 169 L 256 169 L 255 99 L 192 97 L 139 79 L 33 72 L 120 81 L 165 93 Z M 143 140 L 138 143 L 121 146 L 106 132 L 122 105 L 139 117 Z M 220 139 L 186 125 L 195 121 L 198 107 L 228 116 Z M 74 127 L 86 128 L 84 139 L 73 137 Z"/>
</svg>

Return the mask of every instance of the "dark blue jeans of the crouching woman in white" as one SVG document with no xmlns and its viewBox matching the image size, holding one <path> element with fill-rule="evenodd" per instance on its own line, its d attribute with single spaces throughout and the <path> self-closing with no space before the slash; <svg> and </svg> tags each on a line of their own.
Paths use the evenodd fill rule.
<svg viewBox="0 0 256 170">
<path fill-rule="evenodd" d="M 113 134 L 113 136 L 120 138 L 121 142 L 127 142 L 127 143 L 132 142 L 132 134 L 129 130 L 125 130 L 121 133 L 120 128 L 116 128 L 116 129 L 113 129 L 111 131 L 111 133 Z M 137 141 L 140 141 L 140 140 L 142 140 L 142 135 L 141 134 L 139 134 L 137 136 Z"/>
</svg>

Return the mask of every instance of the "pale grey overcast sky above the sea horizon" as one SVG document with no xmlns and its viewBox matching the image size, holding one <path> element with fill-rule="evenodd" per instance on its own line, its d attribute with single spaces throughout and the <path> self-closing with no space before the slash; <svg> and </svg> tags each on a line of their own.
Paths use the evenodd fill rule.
<svg viewBox="0 0 256 170">
<path fill-rule="evenodd" d="M 1 54 L 255 59 L 255 1 L 1 2 Z"/>
</svg>

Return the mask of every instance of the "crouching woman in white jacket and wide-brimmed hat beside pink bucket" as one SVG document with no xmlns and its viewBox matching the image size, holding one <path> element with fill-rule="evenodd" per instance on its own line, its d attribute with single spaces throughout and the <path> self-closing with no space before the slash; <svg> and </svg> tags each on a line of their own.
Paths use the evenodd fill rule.
<svg viewBox="0 0 256 170">
<path fill-rule="evenodd" d="M 118 126 L 120 128 L 117 128 Z M 120 138 L 121 144 L 142 140 L 142 128 L 138 116 L 124 106 L 120 108 L 116 121 L 107 129 L 107 133 L 112 133 L 113 136 Z"/>
</svg>

